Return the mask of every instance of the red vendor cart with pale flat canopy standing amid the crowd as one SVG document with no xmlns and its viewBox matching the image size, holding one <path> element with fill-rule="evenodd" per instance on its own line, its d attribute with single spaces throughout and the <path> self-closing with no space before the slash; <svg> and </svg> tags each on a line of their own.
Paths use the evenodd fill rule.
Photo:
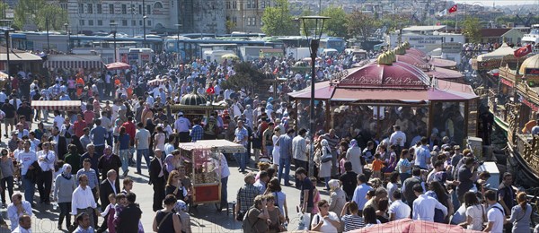
<svg viewBox="0 0 539 233">
<path fill-rule="evenodd" d="M 180 143 L 186 175 L 191 177 L 192 203 L 221 203 L 221 153 L 245 152 L 241 144 L 226 140 Z"/>
</svg>

